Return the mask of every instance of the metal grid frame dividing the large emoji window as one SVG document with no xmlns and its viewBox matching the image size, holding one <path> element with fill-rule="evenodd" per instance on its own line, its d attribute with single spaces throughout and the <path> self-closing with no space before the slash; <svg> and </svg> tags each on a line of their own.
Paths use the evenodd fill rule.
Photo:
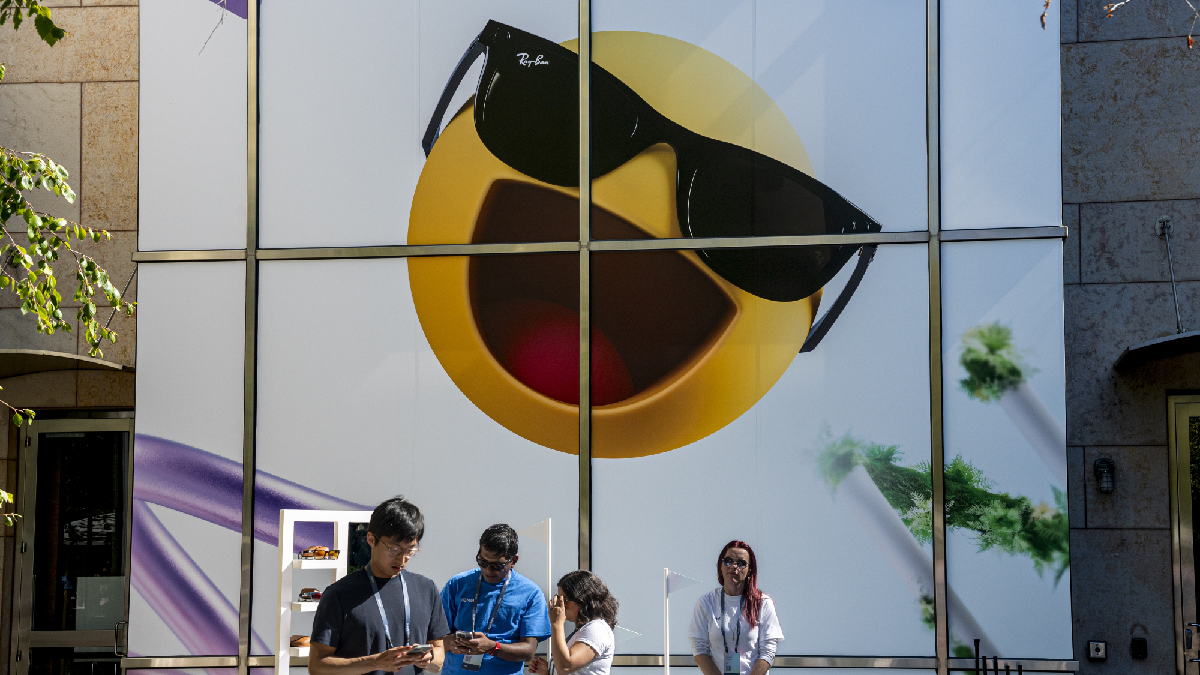
<svg viewBox="0 0 1200 675">
<path fill-rule="evenodd" d="M 592 566 L 592 419 L 590 419 L 590 275 L 593 251 L 660 251 L 715 247 L 804 246 L 829 244 L 924 245 L 929 251 L 929 386 L 931 461 L 944 461 L 942 424 L 942 283 L 941 244 L 943 241 L 986 241 L 1000 239 L 1066 238 L 1066 227 L 1013 227 L 996 229 L 941 229 L 941 162 L 940 162 L 940 13 L 941 0 L 926 0 L 926 157 L 928 157 L 928 223 L 916 232 L 882 232 L 864 235 L 812 235 L 770 238 L 712 238 L 712 239 L 650 239 L 593 240 L 590 232 L 590 54 L 592 0 L 578 0 L 580 44 L 580 238 L 576 241 L 514 243 L 514 244 L 444 244 L 396 246 L 331 246 L 331 247 L 258 247 L 258 50 L 259 7 L 247 4 L 246 44 L 246 247 L 210 251 L 138 251 L 138 263 L 223 262 L 246 261 L 246 340 L 245 340 L 245 416 L 242 441 L 242 537 L 241 589 L 239 595 L 238 656 L 125 658 L 122 669 L 131 668 L 238 668 L 248 675 L 250 668 L 272 667 L 274 656 L 251 655 L 251 602 L 253 585 L 253 518 L 256 476 L 256 412 L 258 357 L 258 261 L 301 259 L 370 259 L 430 256 L 469 255 L 528 255 L 578 253 L 580 256 L 580 420 L 578 420 L 578 566 Z M 934 657 L 840 657 L 840 656 L 779 656 L 776 668 L 923 668 L 936 669 L 938 675 L 967 669 L 968 661 L 949 657 L 949 631 L 946 607 L 946 514 L 942 473 L 934 472 L 934 604 L 936 613 Z M 672 655 L 671 662 L 690 664 L 690 657 Z M 614 665 L 661 667 L 661 656 L 624 655 Z M 1008 661 L 1030 671 L 1063 673 L 1078 670 L 1074 661 Z"/>
</svg>

